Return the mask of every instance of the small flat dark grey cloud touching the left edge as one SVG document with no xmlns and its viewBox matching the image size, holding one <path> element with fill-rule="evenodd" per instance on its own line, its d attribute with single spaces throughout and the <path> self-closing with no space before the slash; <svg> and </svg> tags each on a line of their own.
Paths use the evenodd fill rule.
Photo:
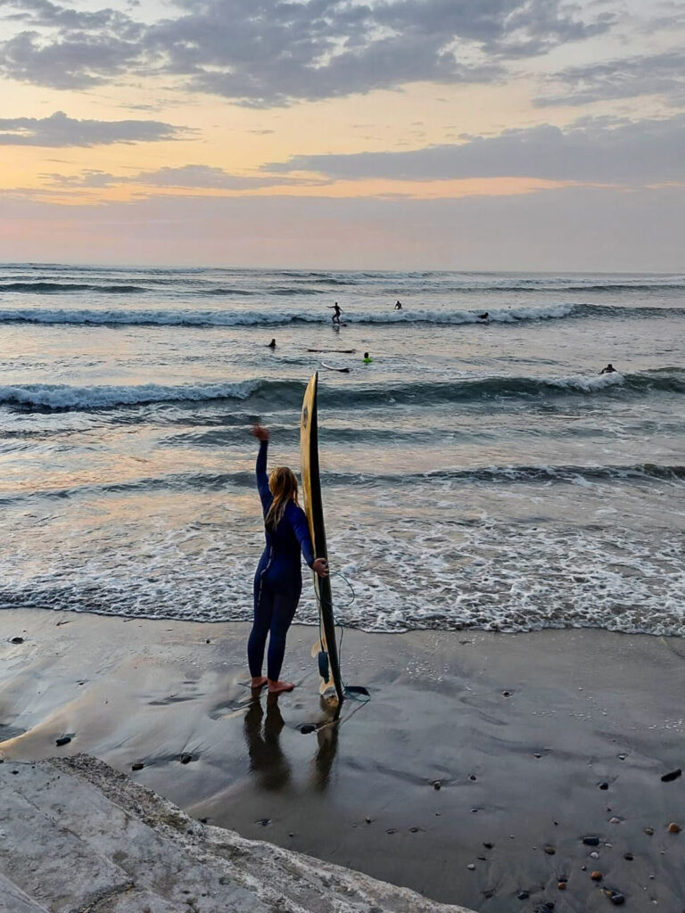
<svg viewBox="0 0 685 913">
<path fill-rule="evenodd" d="M 162 121 L 78 121 L 64 111 L 49 117 L 0 118 L 0 146 L 100 146 L 113 142 L 160 142 L 188 131 Z"/>
</svg>

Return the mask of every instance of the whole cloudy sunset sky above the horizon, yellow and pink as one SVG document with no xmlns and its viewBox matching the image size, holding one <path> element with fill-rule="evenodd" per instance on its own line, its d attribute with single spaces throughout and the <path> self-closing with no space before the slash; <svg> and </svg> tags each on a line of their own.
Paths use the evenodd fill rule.
<svg viewBox="0 0 685 913">
<path fill-rule="evenodd" d="M 685 0 L 0 0 L 0 261 L 685 271 Z"/>
</svg>

